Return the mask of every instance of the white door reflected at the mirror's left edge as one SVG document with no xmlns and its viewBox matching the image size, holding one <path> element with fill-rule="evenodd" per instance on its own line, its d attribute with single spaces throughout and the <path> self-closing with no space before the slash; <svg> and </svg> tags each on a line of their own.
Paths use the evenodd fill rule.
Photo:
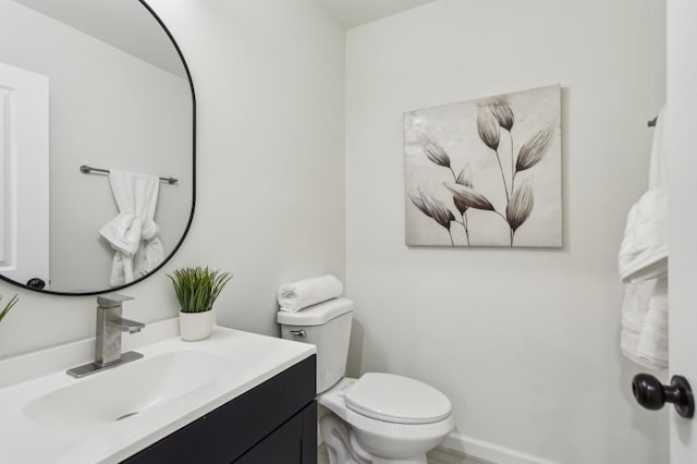
<svg viewBox="0 0 697 464">
<path fill-rule="evenodd" d="M 49 282 L 49 80 L 0 63 L 0 271 Z"/>
</svg>

